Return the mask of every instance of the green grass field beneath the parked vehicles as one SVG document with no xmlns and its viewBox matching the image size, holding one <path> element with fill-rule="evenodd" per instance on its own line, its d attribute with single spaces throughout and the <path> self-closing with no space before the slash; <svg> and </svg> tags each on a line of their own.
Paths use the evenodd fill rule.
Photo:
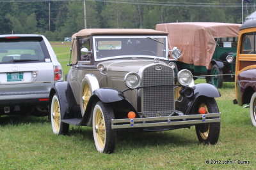
<svg viewBox="0 0 256 170">
<path fill-rule="evenodd" d="M 52 46 L 67 73 L 70 43 Z M 97 152 L 90 127 L 72 126 L 67 136 L 56 136 L 46 117 L 0 117 L 0 169 L 255 169 L 249 109 L 232 104 L 234 83 L 224 83 L 220 92 L 220 139 L 209 146 L 198 144 L 195 127 L 118 132 L 115 153 L 106 155 Z"/>
</svg>

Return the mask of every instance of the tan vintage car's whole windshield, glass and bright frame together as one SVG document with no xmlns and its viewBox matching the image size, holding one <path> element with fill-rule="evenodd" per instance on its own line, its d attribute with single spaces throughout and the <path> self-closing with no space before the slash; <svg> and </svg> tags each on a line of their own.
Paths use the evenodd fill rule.
<svg viewBox="0 0 256 170">
<path fill-rule="evenodd" d="M 95 60 L 122 57 L 167 59 L 167 36 L 94 36 Z"/>
</svg>

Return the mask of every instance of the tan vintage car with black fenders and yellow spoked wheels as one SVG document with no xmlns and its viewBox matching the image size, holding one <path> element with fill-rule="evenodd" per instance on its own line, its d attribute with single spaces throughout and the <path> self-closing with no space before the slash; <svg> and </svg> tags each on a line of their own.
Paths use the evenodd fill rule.
<svg viewBox="0 0 256 170">
<path fill-rule="evenodd" d="M 69 124 L 92 127 L 96 148 L 111 153 L 118 129 L 165 131 L 196 125 L 200 143 L 215 144 L 220 117 L 210 84 L 195 85 L 190 71 L 177 72 L 168 34 L 151 29 L 84 29 L 72 36 L 67 81 L 51 89 L 55 134 Z M 175 93 L 176 92 L 176 93 Z M 176 97 L 175 96 L 179 96 Z"/>
</svg>

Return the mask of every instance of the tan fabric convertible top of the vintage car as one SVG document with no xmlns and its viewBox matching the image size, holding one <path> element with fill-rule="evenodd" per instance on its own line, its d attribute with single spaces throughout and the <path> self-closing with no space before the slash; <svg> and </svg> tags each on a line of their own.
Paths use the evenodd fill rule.
<svg viewBox="0 0 256 170">
<path fill-rule="evenodd" d="M 77 39 L 74 38 L 92 35 L 168 35 L 168 33 L 154 29 L 82 29 L 72 35 L 72 64 L 77 62 Z"/>
</svg>

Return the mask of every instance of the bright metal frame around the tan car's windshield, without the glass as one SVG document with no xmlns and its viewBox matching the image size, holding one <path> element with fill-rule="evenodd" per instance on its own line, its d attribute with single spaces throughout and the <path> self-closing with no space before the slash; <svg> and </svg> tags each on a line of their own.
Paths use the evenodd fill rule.
<svg viewBox="0 0 256 170">
<path fill-rule="evenodd" d="M 118 55 L 118 56 L 112 56 L 112 57 L 104 57 L 104 58 L 97 58 L 97 45 L 96 45 L 96 39 L 97 38 L 148 38 L 150 41 L 155 41 L 154 39 L 156 38 L 164 38 L 165 39 L 165 57 L 158 57 L 158 56 L 153 56 L 153 55 Z M 153 38 L 153 39 L 152 39 Z M 110 60 L 110 59 L 122 59 L 122 58 L 151 58 L 151 59 L 156 59 L 159 58 L 161 60 L 168 60 L 168 36 L 163 36 L 163 35 L 143 35 L 143 36 L 138 36 L 138 35 L 130 35 L 130 36 L 93 36 L 93 55 L 94 55 L 94 60 L 95 61 L 101 61 L 101 60 Z"/>
</svg>

